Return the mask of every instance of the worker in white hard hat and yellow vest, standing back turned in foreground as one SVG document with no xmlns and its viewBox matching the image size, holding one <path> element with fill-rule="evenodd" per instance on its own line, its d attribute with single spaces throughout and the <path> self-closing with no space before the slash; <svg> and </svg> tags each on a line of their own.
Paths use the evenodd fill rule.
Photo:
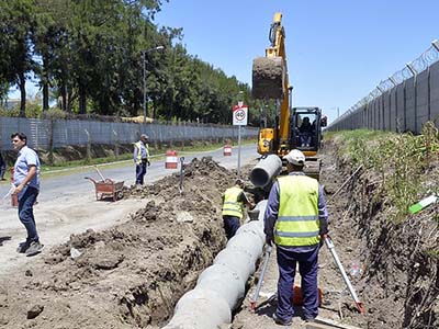
<svg viewBox="0 0 439 329">
<path fill-rule="evenodd" d="M 322 236 L 327 234 L 328 213 L 322 186 L 303 172 L 304 154 L 293 149 L 283 159 L 289 174 L 278 178 L 271 188 L 263 220 L 266 242 L 275 243 L 279 266 L 273 319 L 278 325 L 290 326 L 297 262 L 304 319 L 313 321 L 318 314 L 317 261 Z"/>
</svg>

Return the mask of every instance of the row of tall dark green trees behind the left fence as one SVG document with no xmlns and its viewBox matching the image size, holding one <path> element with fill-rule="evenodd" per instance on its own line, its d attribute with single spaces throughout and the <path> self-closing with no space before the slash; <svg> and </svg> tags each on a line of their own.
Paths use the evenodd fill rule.
<svg viewBox="0 0 439 329">
<path fill-rule="evenodd" d="M 53 97 L 68 113 L 136 116 L 143 114 L 145 93 L 155 118 L 230 123 L 236 95 L 244 91 L 248 104 L 249 87 L 188 55 L 176 43 L 181 29 L 157 31 L 154 16 L 162 3 L 1 1 L 0 98 L 16 83 L 24 99 L 24 82 L 34 73 L 44 110 Z M 166 49 L 144 53 L 157 45 Z"/>
</svg>

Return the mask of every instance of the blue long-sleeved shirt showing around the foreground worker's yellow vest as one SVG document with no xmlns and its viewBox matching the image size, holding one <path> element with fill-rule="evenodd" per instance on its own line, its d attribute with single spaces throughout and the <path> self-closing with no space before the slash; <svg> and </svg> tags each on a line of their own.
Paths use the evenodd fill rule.
<svg viewBox="0 0 439 329">
<path fill-rule="evenodd" d="M 303 171 L 293 171 L 290 172 L 289 175 L 304 175 Z M 275 181 L 273 186 L 271 188 L 270 195 L 267 202 L 266 214 L 263 216 L 263 232 L 268 237 L 274 236 L 274 225 L 275 220 L 278 220 L 279 214 L 279 182 Z M 320 232 L 327 232 L 328 228 L 328 211 L 326 209 L 326 202 L 323 194 L 322 185 L 318 184 L 318 219 L 320 220 Z M 305 246 L 305 247 L 285 247 L 278 246 L 278 248 L 282 248 L 285 250 L 292 250 L 294 252 L 308 252 L 315 249 L 317 246 Z"/>
</svg>

